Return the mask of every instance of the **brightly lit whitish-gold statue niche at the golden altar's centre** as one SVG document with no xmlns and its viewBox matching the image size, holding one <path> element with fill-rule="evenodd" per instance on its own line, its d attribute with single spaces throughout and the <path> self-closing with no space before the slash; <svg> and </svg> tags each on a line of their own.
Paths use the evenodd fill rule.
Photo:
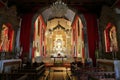
<svg viewBox="0 0 120 80">
<path fill-rule="evenodd" d="M 56 35 L 53 47 L 54 57 L 64 57 L 65 47 L 62 35 Z"/>
</svg>

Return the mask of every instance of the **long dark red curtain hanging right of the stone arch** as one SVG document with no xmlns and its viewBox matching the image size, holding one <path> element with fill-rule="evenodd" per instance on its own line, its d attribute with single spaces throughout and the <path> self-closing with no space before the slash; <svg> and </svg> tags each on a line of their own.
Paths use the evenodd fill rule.
<svg viewBox="0 0 120 80">
<path fill-rule="evenodd" d="M 95 49 L 96 44 L 98 44 L 98 27 L 97 27 L 97 17 L 94 14 L 84 14 L 87 23 L 87 34 L 88 34 L 88 47 L 89 47 L 89 57 L 93 59 L 95 65 Z"/>
</svg>

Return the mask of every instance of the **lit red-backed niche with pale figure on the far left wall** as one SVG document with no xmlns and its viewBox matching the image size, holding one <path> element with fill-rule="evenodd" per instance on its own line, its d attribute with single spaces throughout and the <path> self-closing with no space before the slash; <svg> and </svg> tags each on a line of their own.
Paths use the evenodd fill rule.
<svg viewBox="0 0 120 80">
<path fill-rule="evenodd" d="M 3 24 L 0 31 L 0 52 L 11 52 L 13 50 L 14 30 L 11 24 Z"/>
</svg>

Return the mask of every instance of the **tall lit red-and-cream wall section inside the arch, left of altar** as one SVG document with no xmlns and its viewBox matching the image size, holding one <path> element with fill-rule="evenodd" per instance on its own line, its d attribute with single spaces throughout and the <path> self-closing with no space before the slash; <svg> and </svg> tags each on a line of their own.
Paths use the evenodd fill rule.
<svg viewBox="0 0 120 80">
<path fill-rule="evenodd" d="M 39 15 L 34 22 L 34 37 L 33 37 L 33 47 L 32 47 L 32 58 L 44 56 L 45 53 L 45 43 L 44 43 L 44 33 L 45 25 L 42 20 L 42 16 Z"/>
</svg>

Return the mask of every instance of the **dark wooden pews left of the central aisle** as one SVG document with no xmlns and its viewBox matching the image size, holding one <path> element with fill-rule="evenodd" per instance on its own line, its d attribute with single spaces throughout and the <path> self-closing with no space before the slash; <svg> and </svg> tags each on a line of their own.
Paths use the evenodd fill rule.
<svg viewBox="0 0 120 80">
<path fill-rule="evenodd" d="M 44 63 L 38 63 L 37 65 L 28 65 L 26 67 L 23 67 L 21 69 L 18 69 L 16 72 L 20 74 L 27 74 L 28 78 L 31 80 L 34 78 L 35 80 L 39 78 L 40 76 L 44 76 L 45 72 L 45 64 Z"/>
</svg>

